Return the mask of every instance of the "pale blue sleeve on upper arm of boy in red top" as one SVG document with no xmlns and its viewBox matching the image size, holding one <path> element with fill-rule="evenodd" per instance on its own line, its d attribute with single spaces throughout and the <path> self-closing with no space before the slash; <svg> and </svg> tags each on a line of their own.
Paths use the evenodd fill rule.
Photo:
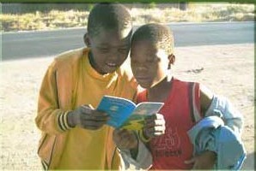
<svg viewBox="0 0 256 171">
<path fill-rule="evenodd" d="M 222 118 L 224 125 L 230 127 L 237 135 L 241 136 L 243 127 L 243 116 L 235 109 L 229 99 L 221 96 L 214 96 L 205 116 L 217 115 Z"/>
</svg>

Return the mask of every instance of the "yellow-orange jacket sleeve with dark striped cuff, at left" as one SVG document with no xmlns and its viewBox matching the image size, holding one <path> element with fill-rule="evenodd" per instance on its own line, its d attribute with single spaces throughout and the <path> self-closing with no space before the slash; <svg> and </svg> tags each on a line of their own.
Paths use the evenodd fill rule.
<svg viewBox="0 0 256 171">
<path fill-rule="evenodd" d="M 56 61 L 47 69 L 39 94 L 37 127 L 49 134 L 63 133 L 70 129 L 67 123 L 68 111 L 59 109 Z"/>
</svg>

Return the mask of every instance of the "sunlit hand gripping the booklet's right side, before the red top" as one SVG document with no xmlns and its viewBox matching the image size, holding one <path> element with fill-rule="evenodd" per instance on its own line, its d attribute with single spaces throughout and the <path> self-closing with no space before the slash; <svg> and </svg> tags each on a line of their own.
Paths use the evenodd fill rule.
<svg viewBox="0 0 256 171">
<path fill-rule="evenodd" d="M 146 139 L 154 138 L 165 133 L 165 120 L 162 114 L 149 115 L 145 119 L 143 135 Z"/>
</svg>

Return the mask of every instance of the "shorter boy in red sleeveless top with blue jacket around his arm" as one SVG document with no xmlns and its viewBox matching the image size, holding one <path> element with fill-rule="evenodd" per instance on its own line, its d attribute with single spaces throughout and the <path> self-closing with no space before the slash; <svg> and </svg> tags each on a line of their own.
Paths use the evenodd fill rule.
<svg viewBox="0 0 256 171">
<path fill-rule="evenodd" d="M 224 140 L 216 141 L 215 139 L 219 136 L 218 131 L 220 131 L 217 128 L 223 126 L 223 123 L 219 122 L 224 122 L 225 126 L 229 127 L 224 127 L 225 130 L 222 133 L 227 133 L 226 135 L 229 137 L 233 136 L 232 141 L 229 142 L 230 145 L 237 142 L 236 138 L 239 139 L 241 136 L 241 114 L 232 107 L 228 100 L 214 95 L 203 85 L 174 78 L 170 72 L 174 62 L 174 37 L 168 27 L 148 24 L 139 27 L 134 32 L 131 38 L 131 69 L 138 84 L 145 88 L 145 91 L 138 94 L 137 103 L 164 102 L 159 113 L 164 116 L 165 134 L 155 137 L 157 130 L 154 127 L 157 125 L 160 127 L 161 123 L 154 121 L 154 118 L 149 118 L 143 131 L 139 132 L 139 138 L 148 144 L 153 157 L 150 169 L 209 169 L 214 167 L 216 157 L 218 157 L 218 161 L 222 159 L 232 161 L 232 157 L 237 159 L 237 156 L 231 155 L 232 151 L 228 152 L 231 156 L 229 158 L 218 156 L 225 153 L 226 149 L 219 151 L 214 144 Z M 212 119 L 211 115 L 218 117 L 214 116 L 216 118 Z M 202 124 L 199 120 L 206 116 L 210 117 Z M 219 118 L 222 118 L 223 121 Z M 199 127 L 192 129 L 197 121 L 199 121 Z M 213 126 L 208 125 L 212 123 Z M 214 124 L 218 124 L 217 127 Z M 204 127 L 207 127 L 205 129 L 207 132 L 198 131 L 199 129 L 203 130 Z M 204 135 L 203 138 L 207 139 L 197 139 L 200 133 Z M 130 144 L 124 144 L 123 139 L 119 139 L 122 134 L 125 133 L 114 133 L 115 143 L 122 146 L 123 149 L 126 145 L 128 149 L 136 150 L 137 139 L 130 139 Z M 191 141 L 191 135 L 197 135 L 196 142 Z M 235 141 L 233 141 L 234 137 Z M 203 145 L 201 141 L 209 144 Z M 203 149 L 200 144 L 204 147 Z M 239 152 L 243 152 L 239 142 L 238 146 L 241 148 Z M 197 149 L 200 152 L 193 156 Z M 221 162 L 225 164 L 225 162 Z M 220 168 L 222 167 L 220 166 Z M 233 165 L 225 167 L 232 168 Z"/>
</svg>

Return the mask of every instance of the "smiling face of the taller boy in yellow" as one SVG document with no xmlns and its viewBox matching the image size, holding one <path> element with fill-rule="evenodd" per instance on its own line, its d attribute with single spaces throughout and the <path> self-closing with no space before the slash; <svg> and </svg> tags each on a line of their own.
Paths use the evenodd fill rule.
<svg viewBox="0 0 256 171">
<path fill-rule="evenodd" d="M 93 38 L 88 37 L 94 58 L 94 69 L 100 74 L 113 73 L 125 62 L 130 50 L 131 28 L 122 32 L 101 28 Z"/>
</svg>

